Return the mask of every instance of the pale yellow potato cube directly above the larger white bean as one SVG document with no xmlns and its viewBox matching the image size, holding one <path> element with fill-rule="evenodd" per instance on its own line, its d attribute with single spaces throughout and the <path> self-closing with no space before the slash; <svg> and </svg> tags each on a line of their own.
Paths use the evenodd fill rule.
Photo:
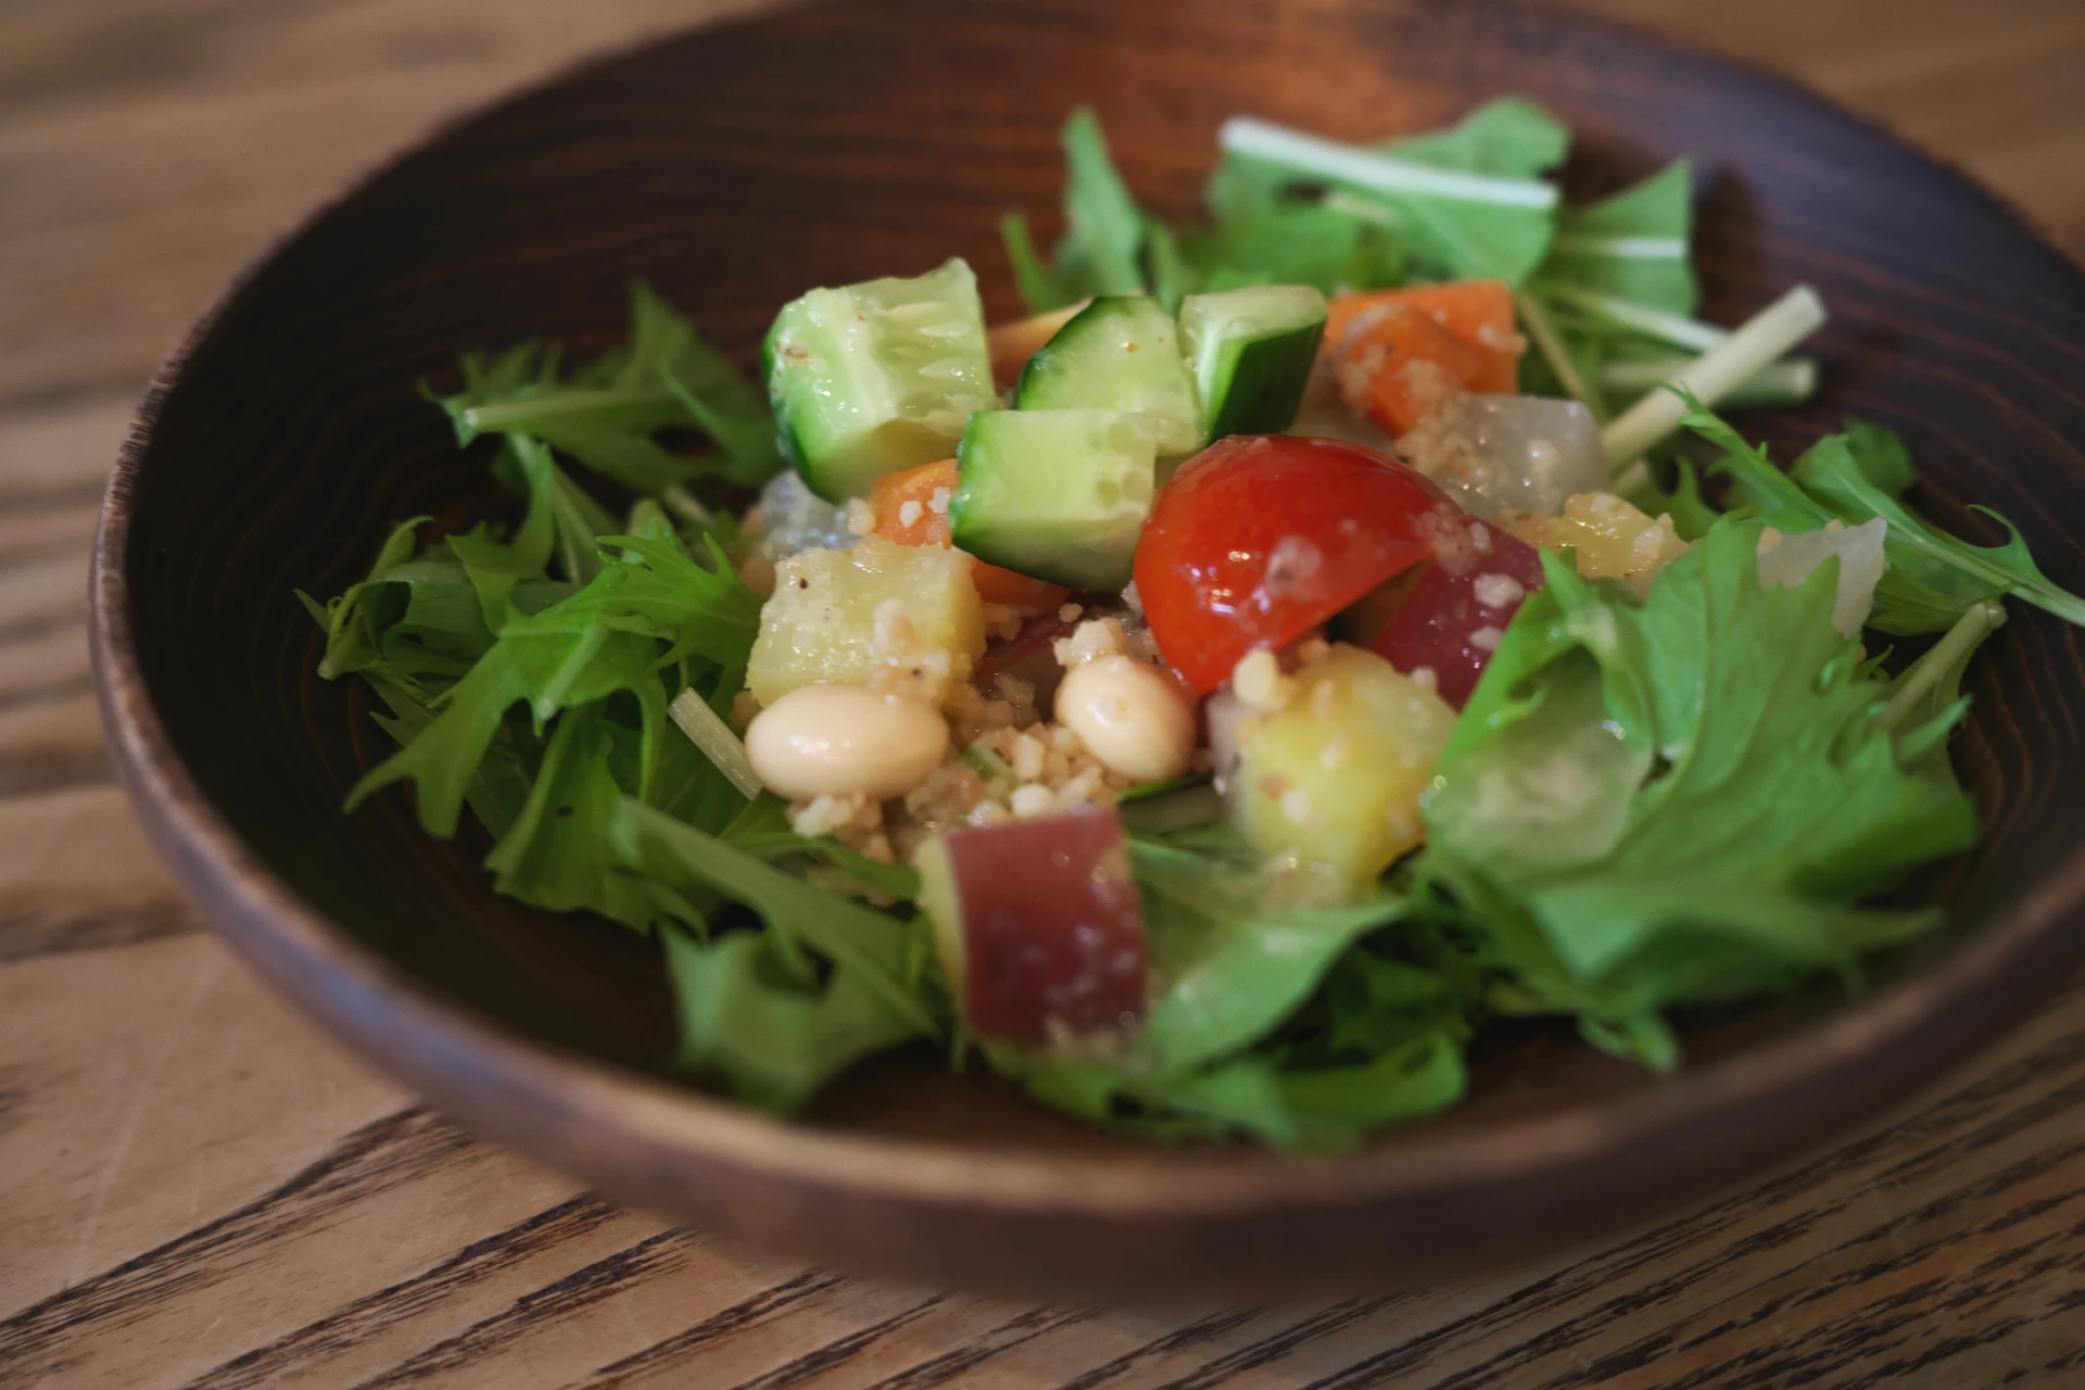
<svg viewBox="0 0 2085 1390">
<path fill-rule="evenodd" d="M 799 686 L 865 684 L 947 700 L 984 654 L 974 561 L 942 546 L 867 536 L 776 565 L 746 686 L 771 704 Z"/>
</svg>

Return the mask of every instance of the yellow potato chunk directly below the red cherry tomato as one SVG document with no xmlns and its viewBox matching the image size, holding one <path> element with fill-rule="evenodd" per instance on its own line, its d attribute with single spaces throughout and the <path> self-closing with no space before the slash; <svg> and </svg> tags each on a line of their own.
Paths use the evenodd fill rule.
<svg viewBox="0 0 2085 1390">
<path fill-rule="evenodd" d="M 1291 681 L 1286 704 L 1236 729 L 1238 829 L 1266 854 L 1362 886 L 1426 838 L 1420 792 L 1455 711 L 1430 684 L 1353 646 L 1334 646 Z"/>
</svg>

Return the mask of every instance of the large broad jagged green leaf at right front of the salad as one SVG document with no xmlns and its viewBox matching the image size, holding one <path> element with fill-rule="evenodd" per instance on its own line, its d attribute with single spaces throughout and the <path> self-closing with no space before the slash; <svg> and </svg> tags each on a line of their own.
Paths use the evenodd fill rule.
<svg viewBox="0 0 2085 1390">
<path fill-rule="evenodd" d="M 1760 529 L 1716 523 L 1641 606 L 1545 561 L 1426 798 L 1420 873 L 1485 923 L 1507 1007 L 1578 1013 L 1649 1065 L 1674 1059 L 1668 1007 L 1854 977 L 1931 927 L 1854 902 L 1974 838 L 1952 779 L 1874 723 L 1887 692 L 1831 623 L 1837 565 L 1762 588 Z"/>
</svg>

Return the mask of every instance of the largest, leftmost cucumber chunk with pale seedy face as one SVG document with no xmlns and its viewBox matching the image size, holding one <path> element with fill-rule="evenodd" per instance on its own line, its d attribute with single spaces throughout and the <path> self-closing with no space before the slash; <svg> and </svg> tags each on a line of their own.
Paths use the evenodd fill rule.
<svg viewBox="0 0 2085 1390">
<path fill-rule="evenodd" d="M 811 290 L 782 306 L 761 356 L 782 454 L 828 502 L 947 458 L 970 415 L 999 404 L 978 277 L 961 258 Z"/>
</svg>

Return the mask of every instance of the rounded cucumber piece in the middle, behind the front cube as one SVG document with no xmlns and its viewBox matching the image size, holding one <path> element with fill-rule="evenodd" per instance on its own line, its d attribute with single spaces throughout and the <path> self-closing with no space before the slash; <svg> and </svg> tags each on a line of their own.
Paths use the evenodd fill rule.
<svg viewBox="0 0 2085 1390">
<path fill-rule="evenodd" d="M 1180 325 L 1149 294 L 1086 304 L 1022 369 L 1020 411 L 1132 411 L 1151 417 L 1161 454 L 1203 446 Z"/>
</svg>

